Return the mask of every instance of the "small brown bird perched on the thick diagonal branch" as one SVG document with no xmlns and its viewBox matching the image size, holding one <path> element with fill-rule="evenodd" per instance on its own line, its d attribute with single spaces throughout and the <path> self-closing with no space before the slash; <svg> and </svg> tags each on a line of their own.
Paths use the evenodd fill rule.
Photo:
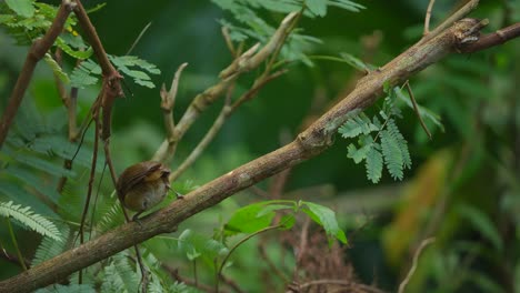
<svg viewBox="0 0 520 293">
<path fill-rule="evenodd" d="M 153 161 L 133 164 L 121 173 L 116 186 L 118 198 L 124 208 L 137 212 L 133 221 L 164 199 L 170 189 L 170 173 L 168 166 Z"/>
</svg>

